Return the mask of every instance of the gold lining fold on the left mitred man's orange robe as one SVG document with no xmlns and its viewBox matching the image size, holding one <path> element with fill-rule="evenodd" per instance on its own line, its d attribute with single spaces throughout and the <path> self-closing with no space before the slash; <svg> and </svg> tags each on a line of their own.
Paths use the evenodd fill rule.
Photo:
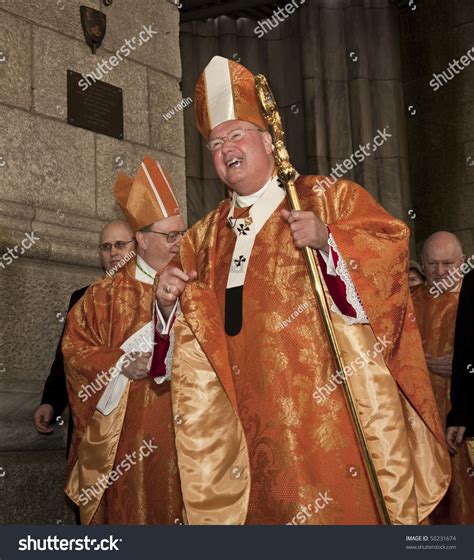
<svg viewBox="0 0 474 560">
<path fill-rule="evenodd" d="M 73 467 L 65 491 L 71 500 L 79 506 L 81 524 L 89 525 L 92 521 L 104 490 L 96 486 L 97 491 L 87 492 L 99 477 L 106 481 L 115 461 L 117 446 L 122 433 L 123 420 L 127 410 L 127 384 L 118 407 L 108 416 L 96 410 L 87 426 L 84 437 L 79 445 L 78 459 Z M 102 475 L 104 475 L 102 477 Z M 79 497 L 83 494 L 83 499 Z M 87 504 L 84 502 L 87 501 Z"/>
</svg>

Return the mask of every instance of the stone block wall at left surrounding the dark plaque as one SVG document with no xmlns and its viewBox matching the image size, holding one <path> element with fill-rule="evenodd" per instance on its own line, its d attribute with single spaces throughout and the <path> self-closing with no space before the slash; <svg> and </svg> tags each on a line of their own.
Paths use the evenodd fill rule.
<svg viewBox="0 0 474 560">
<path fill-rule="evenodd" d="M 96 55 L 81 4 L 107 16 Z M 123 90 L 124 140 L 67 124 L 67 70 L 90 73 L 144 25 L 158 33 L 103 78 Z M 185 208 L 183 115 L 163 118 L 182 99 L 178 38 L 167 0 L 0 3 L 0 523 L 73 522 L 62 491 L 67 422 L 41 436 L 33 412 L 69 296 L 101 274 L 98 233 L 120 216 L 116 173 L 159 159 Z M 30 249 L 2 259 L 31 232 Z"/>
</svg>

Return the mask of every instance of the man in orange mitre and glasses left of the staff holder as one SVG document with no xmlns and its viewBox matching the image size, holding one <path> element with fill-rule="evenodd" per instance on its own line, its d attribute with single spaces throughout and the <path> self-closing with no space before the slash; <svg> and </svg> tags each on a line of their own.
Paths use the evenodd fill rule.
<svg viewBox="0 0 474 560">
<path fill-rule="evenodd" d="M 68 317 L 62 350 L 75 430 L 66 493 L 82 524 L 174 524 L 170 340 L 157 345 L 153 285 L 179 252 L 184 222 L 167 172 L 150 157 L 133 179 L 117 177 L 114 196 L 136 258 L 94 282 Z M 115 254 L 106 240 L 101 246 Z"/>
</svg>

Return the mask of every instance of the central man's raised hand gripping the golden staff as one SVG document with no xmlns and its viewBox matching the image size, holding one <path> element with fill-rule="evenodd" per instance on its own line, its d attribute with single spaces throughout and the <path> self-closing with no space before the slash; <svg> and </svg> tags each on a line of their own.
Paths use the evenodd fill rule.
<svg viewBox="0 0 474 560">
<path fill-rule="evenodd" d="M 298 249 L 311 247 L 329 252 L 328 228 L 314 212 L 283 209 L 281 216 L 290 226 L 293 242 Z"/>
</svg>

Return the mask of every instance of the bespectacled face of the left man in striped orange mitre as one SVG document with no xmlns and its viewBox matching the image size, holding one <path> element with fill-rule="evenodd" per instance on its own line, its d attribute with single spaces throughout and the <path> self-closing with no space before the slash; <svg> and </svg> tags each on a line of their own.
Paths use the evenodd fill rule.
<svg viewBox="0 0 474 560">
<path fill-rule="evenodd" d="M 152 232 L 170 233 L 185 229 L 186 226 L 181 216 L 170 216 L 152 224 L 150 227 L 152 231 L 137 231 L 138 254 L 152 268 L 161 270 L 179 253 L 182 236 L 178 236 L 173 243 L 168 243 L 166 235 Z"/>
</svg>

